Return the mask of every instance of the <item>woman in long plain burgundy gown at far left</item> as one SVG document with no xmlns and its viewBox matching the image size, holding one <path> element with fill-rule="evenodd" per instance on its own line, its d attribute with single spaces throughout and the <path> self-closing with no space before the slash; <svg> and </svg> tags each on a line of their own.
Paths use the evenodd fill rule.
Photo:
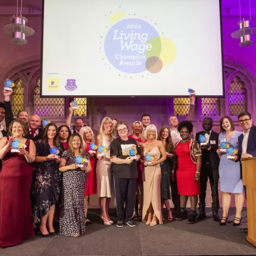
<svg viewBox="0 0 256 256">
<path fill-rule="evenodd" d="M 0 141 L 0 246 L 17 245 L 24 239 L 33 237 L 30 188 L 33 168 L 29 165 L 35 160 L 36 148 L 27 136 L 26 124 L 21 120 L 11 122 L 10 137 Z M 19 152 L 11 152 L 13 141 L 23 143 Z M 22 148 L 21 148 L 22 147 Z"/>
</svg>

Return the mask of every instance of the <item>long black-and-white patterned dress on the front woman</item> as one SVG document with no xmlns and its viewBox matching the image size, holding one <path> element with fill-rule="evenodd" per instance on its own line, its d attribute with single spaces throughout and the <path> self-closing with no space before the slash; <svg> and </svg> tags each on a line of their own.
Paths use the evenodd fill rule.
<svg viewBox="0 0 256 256">
<path fill-rule="evenodd" d="M 82 156 L 90 159 L 88 153 Z M 76 163 L 74 153 L 64 151 L 62 158 L 66 166 Z M 87 164 L 85 164 L 87 166 Z M 74 236 L 85 233 L 85 193 L 86 171 L 76 168 L 63 172 L 62 201 L 60 212 L 60 235 Z"/>
</svg>

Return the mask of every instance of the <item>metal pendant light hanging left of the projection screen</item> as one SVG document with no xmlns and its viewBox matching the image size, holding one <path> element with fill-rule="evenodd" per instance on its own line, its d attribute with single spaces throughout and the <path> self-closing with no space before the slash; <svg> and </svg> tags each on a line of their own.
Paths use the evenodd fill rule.
<svg viewBox="0 0 256 256">
<path fill-rule="evenodd" d="M 17 0 L 17 14 L 11 17 L 12 23 L 5 24 L 3 30 L 8 35 L 12 35 L 12 40 L 17 45 L 25 45 L 27 43 L 26 37 L 32 36 L 35 30 L 32 27 L 26 26 L 27 18 L 23 17 L 22 11 L 22 0 L 20 6 L 20 15 L 18 15 L 18 0 Z"/>
</svg>

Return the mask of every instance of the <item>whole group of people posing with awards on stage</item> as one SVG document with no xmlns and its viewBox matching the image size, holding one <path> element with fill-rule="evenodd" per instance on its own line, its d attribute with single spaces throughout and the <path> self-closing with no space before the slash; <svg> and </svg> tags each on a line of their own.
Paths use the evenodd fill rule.
<svg viewBox="0 0 256 256">
<path fill-rule="evenodd" d="M 149 114 L 135 121 L 131 131 L 125 121 L 103 118 L 99 134 L 84 126 L 81 118 L 70 129 L 70 113 L 64 125 L 42 126 L 38 115 L 29 117 L 19 111 L 14 120 L 10 91 L 4 90 L 0 102 L 0 246 L 11 246 L 34 235 L 39 227 L 43 237 L 56 235 L 54 219 L 59 218 L 60 234 L 78 237 L 85 233 L 89 196 L 97 193 L 104 225 L 114 223 L 108 213 L 112 191 L 117 210 L 117 227 L 136 226 L 142 220 L 149 226 L 163 224 L 164 206 L 167 220 L 185 220 L 188 224 L 205 215 L 207 180 L 212 191 L 214 221 L 226 224 L 231 193 L 235 193 L 239 226 L 243 207 L 240 160 L 256 157 L 256 127 L 251 114 L 243 112 L 238 121 L 243 132 L 235 130 L 230 117 L 220 120 L 221 133 L 212 130 L 213 120 L 205 118 L 202 132 L 192 139 L 195 96 L 186 121 L 175 115 L 168 126 L 158 131 Z M 204 136 L 205 142 L 201 137 Z M 232 159 L 227 156 L 229 145 Z M 101 149 L 101 150 L 99 150 Z M 229 154 L 230 155 L 230 154 Z M 223 192 L 223 216 L 218 217 L 218 180 Z M 171 192 L 170 192 L 171 188 Z M 196 213 L 199 195 L 199 214 Z M 188 198 L 191 210 L 186 213 Z M 174 204 L 174 214 L 169 200 Z M 33 220 L 33 221 L 32 221 Z M 246 232 L 246 230 L 243 230 Z"/>
</svg>

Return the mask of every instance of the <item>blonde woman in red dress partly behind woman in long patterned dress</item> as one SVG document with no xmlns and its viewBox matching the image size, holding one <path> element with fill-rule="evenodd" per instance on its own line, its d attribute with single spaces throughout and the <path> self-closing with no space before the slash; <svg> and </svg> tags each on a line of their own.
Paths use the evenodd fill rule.
<svg viewBox="0 0 256 256">
<path fill-rule="evenodd" d="M 94 152 L 89 152 L 89 151 L 93 151 L 93 149 L 89 148 L 90 143 L 95 142 L 92 129 L 89 126 L 84 126 L 81 128 L 79 133 L 83 139 L 83 146 L 85 147 L 85 151 L 90 155 L 90 166 L 92 167 L 92 171 L 88 173 L 88 176 L 85 182 L 85 198 L 84 198 L 85 221 L 86 221 L 86 225 L 88 225 L 88 224 L 92 224 L 92 222 L 87 217 L 88 206 L 89 206 L 89 196 L 95 194 L 97 190 L 97 183 L 96 183 L 97 158 Z"/>
</svg>

